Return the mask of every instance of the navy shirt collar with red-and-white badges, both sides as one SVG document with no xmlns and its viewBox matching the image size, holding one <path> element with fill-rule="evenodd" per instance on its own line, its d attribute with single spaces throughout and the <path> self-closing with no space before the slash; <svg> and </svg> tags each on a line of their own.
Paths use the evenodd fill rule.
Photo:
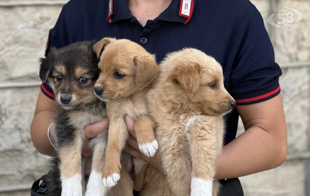
<svg viewBox="0 0 310 196">
<path fill-rule="evenodd" d="M 172 0 L 168 8 L 165 9 L 156 19 L 186 24 L 194 12 L 195 5 L 196 0 Z M 187 9 L 187 14 L 184 14 L 184 9 Z M 109 0 L 106 14 L 107 22 L 114 23 L 131 18 L 132 16 L 128 9 L 127 0 Z"/>
</svg>

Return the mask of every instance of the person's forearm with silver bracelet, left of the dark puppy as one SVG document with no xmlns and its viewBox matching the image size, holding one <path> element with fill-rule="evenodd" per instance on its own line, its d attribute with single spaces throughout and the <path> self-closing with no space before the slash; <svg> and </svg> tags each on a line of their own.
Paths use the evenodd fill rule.
<svg viewBox="0 0 310 196">
<path fill-rule="evenodd" d="M 30 127 L 31 140 L 34 147 L 42 154 L 55 156 L 54 148 L 48 138 L 48 128 L 54 119 L 54 112 L 41 111 L 37 113 Z"/>
</svg>

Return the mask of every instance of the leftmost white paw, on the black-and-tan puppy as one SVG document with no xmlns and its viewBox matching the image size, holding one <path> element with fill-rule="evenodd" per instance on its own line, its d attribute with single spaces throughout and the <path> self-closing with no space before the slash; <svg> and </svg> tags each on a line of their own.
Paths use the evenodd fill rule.
<svg viewBox="0 0 310 196">
<path fill-rule="evenodd" d="M 61 177 L 61 196 L 82 196 L 82 176 Z"/>
</svg>

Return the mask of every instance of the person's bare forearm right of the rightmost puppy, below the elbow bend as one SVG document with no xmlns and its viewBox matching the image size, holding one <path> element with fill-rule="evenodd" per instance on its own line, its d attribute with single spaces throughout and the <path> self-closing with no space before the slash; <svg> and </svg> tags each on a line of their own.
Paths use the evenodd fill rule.
<svg viewBox="0 0 310 196">
<path fill-rule="evenodd" d="M 252 126 L 223 147 L 216 179 L 235 178 L 280 166 L 286 157 L 282 138 Z"/>
</svg>

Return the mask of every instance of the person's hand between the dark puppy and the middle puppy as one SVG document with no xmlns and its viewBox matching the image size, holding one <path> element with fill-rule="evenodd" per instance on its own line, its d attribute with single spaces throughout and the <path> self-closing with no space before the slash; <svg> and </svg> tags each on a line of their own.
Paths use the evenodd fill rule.
<svg viewBox="0 0 310 196">
<path fill-rule="evenodd" d="M 84 156 L 92 156 L 93 152 L 89 148 L 88 141 L 91 138 L 97 137 L 103 131 L 108 130 L 109 128 L 109 120 L 108 118 L 103 119 L 102 121 L 94 124 L 89 124 L 85 126 L 84 136 L 85 140 L 83 141 L 82 154 Z"/>
</svg>

